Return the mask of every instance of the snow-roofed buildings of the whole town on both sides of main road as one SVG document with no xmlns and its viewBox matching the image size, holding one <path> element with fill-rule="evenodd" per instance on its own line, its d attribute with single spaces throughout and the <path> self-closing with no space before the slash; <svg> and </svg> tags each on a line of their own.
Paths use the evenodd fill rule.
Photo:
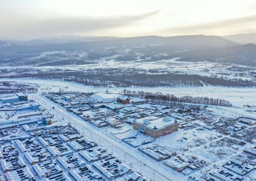
<svg viewBox="0 0 256 181">
<path fill-rule="evenodd" d="M 111 129 L 115 139 L 120 133 L 136 133 L 133 136 L 127 134 L 119 140 L 131 143 L 136 137 L 141 139 L 142 144 L 137 140 L 134 146 L 139 153 L 162 162 L 162 167 L 185 175 L 200 170 L 200 165 L 191 164 L 163 144 L 156 144 L 157 141 L 154 141 L 157 138 L 175 136 L 174 132 L 180 133 L 178 129 L 184 129 L 185 133 L 195 126 L 234 133 L 254 124 L 254 120 L 246 118 L 239 118 L 232 126 L 225 119 L 202 124 L 204 121 L 194 116 L 200 115 L 200 112 L 192 109 L 174 109 L 145 103 L 142 98 L 117 94 L 73 92 L 47 94 L 45 97 L 84 121 L 102 128 L 102 131 Z M 148 144 L 151 142 L 154 144 Z M 256 147 L 246 147 L 243 152 L 256 156 Z M 54 118 L 44 107 L 28 100 L 25 94 L 0 98 L 0 165 L 0 180 L 146 180 L 107 149 Z M 239 181 L 254 168 L 247 162 L 231 159 L 222 167 L 208 170 L 205 177 L 197 180 Z"/>
</svg>

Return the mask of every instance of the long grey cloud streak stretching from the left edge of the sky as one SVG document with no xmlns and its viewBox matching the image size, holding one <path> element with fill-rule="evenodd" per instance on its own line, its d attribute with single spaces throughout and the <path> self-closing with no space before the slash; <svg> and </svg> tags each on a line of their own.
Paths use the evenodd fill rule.
<svg viewBox="0 0 256 181">
<path fill-rule="evenodd" d="M 143 19 L 155 16 L 159 10 L 134 16 L 116 17 L 55 17 L 50 19 L 21 18 L 20 22 L 8 24 L 1 28 L 0 38 L 34 38 L 42 36 L 56 36 L 61 34 L 81 34 L 102 31 L 111 28 L 126 27 L 136 24 Z"/>
</svg>

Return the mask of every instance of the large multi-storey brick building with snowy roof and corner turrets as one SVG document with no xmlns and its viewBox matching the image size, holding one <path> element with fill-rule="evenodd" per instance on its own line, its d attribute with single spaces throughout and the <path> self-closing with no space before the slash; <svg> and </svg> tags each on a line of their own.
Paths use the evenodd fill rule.
<svg viewBox="0 0 256 181">
<path fill-rule="evenodd" d="M 157 118 L 156 116 L 149 116 L 140 118 L 133 122 L 133 129 L 151 136 L 152 138 L 159 138 L 160 136 L 169 135 L 178 130 L 178 122 L 171 117 Z"/>
</svg>

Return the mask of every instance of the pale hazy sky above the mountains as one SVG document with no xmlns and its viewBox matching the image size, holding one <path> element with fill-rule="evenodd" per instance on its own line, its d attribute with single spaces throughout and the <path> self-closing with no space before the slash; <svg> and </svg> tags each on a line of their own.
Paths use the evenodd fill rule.
<svg viewBox="0 0 256 181">
<path fill-rule="evenodd" d="M 0 39 L 256 33 L 255 0 L 0 0 Z"/>
</svg>

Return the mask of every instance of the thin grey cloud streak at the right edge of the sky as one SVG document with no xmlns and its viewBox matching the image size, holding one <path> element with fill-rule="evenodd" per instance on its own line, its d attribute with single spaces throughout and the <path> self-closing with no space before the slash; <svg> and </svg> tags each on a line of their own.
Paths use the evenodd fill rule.
<svg viewBox="0 0 256 181">
<path fill-rule="evenodd" d="M 229 32 L 256 31 L 256 15 L 237 17 L 222 21 L 205 22 L 194 25 L 171 27 L 160 30 L 162 34 L 225 34 Z"/>
</svg>

